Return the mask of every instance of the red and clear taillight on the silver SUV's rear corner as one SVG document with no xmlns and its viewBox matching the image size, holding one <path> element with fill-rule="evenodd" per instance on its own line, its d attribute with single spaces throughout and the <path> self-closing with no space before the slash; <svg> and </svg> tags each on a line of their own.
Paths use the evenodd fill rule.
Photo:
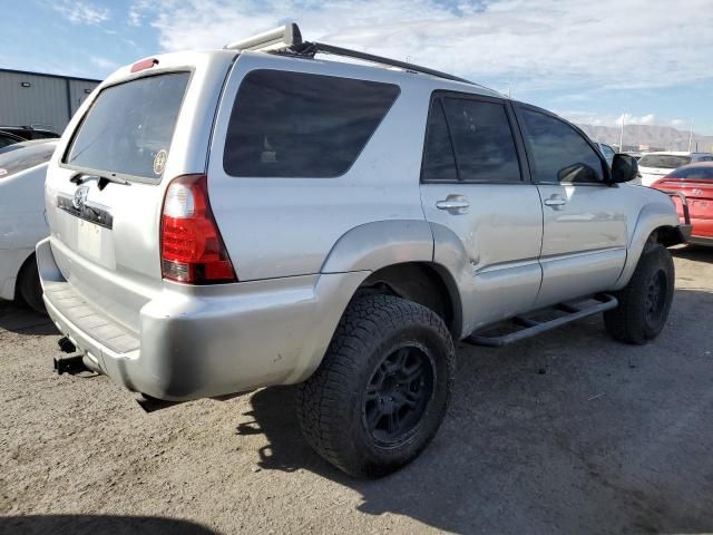
<svg viewBox="0 0 713 535">
<path fill-rule="evenodd" d="M 172 281 L 237 281 L 211 211 L 205 175 L 178 176 L 168 185 L 160 221 L 160 262 L 164 279 Z"/>
</svg>

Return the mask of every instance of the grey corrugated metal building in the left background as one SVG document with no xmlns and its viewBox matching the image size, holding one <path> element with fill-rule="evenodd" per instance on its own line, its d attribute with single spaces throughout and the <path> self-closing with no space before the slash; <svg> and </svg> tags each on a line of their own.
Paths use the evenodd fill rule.
<svg viewBox="0 0 713 535">
<path fill-rule="evenodd" d="M 41 125 L 59 134 L 100 80 L 0 69 L 0 125 Z"/>
</svg>

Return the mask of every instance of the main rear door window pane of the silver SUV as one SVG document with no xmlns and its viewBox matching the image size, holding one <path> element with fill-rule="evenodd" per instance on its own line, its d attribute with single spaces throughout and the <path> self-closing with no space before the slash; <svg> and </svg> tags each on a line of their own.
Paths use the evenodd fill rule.
<svg viewBox="0 0 713 535">
<path fill-rule="evenodd" d="M 502 104 L 445 98 L 443 107 L 460 181 L 520 181 L 515 140 Z"/>
</svg>

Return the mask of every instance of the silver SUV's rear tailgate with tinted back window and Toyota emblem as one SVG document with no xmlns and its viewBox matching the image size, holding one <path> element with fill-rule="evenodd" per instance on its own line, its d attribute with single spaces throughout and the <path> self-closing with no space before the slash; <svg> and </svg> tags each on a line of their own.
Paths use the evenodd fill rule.
<svg viewBox="0 0 713 535">
<path fill-rule="evenodd" d="M 135 333 L 140 309 L 163 288 L 165 189 L 175 176 L 205 172 L 234 57 L 167 55 L 137 72 L 120 69 L 82 106 L 50 163 L 55 262 L 72 292 Z"/>
</svg>

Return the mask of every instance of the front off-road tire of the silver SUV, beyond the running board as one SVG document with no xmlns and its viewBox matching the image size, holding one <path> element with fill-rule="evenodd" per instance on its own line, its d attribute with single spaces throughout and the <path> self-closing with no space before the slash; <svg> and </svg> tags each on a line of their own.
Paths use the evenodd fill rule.
<svg viewBox="0 0 713 535">
<path fill-rule="evenodd" d="M 652 285 L 658 288 L 661 301 L 652 305 Z M 636 270 L 626 286 L 614 295 L 619 304 L 604 313 L 607 332 L 616 340 L 643 344 L 658 335 L 666 324 L 675 283 L 671 253 L 660 243 L 649 243 L 638 259 Z"/>
</svg>

